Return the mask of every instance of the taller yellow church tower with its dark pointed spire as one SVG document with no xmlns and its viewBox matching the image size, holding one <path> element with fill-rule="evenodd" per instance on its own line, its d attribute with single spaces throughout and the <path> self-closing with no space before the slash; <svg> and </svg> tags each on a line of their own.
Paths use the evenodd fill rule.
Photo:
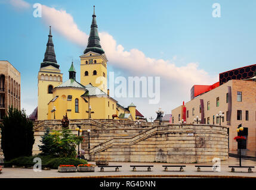
<svg viewBox="0 0 256 190">
<path fill-rule="evenodd" d="M 107 57 L 100 45 L 95 6 L 92 14 L 91 32 L 87 48 L 81 58 L 81 84 L 92 84 L 107 93 Z"/>
</svg>

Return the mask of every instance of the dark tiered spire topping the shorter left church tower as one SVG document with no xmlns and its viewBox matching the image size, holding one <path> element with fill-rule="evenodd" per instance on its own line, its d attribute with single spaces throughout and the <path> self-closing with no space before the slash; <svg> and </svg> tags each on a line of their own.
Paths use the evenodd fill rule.
<svg viewBox="0 0 256 190">
<path fill-rule="evenodd" d="M 44 54 L 44 61 L 41 63 L 41 68 L 48 65 L 53 65 L 55 68 L 59 68 L 60 66 L 57 64 L 56 56 L 54 52 L 53 36 L 51 35 L 51 26 L 50 26 L 50 32 L 48 35 L 48 42 L 46 46 L 47 47 Z"/>
</svg>

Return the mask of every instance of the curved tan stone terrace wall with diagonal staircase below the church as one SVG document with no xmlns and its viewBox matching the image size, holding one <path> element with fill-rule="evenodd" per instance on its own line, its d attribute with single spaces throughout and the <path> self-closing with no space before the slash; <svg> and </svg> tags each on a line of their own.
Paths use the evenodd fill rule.
<svg viewBox="0 0 256 190">
<path fill-rule="evenodd" d="M 35 123 L 36 143 L 33 154 L 38 153 L 38 144 L 47 127 L 61 129 L 60 121 Z M 214 157 L 228 158 L 227 128 L 203 124 L 159 124 L 142 122 L 141 126 L 130 121 L 112 119 L 71 120 L 74 134 L 80 125 L 84 136 L 81 148 L 87 159 L 109 162 L 167 162 L 201 163 L 212 162 Z M 90 129 L 90 150 L 88 132 Z"/>
</svg>

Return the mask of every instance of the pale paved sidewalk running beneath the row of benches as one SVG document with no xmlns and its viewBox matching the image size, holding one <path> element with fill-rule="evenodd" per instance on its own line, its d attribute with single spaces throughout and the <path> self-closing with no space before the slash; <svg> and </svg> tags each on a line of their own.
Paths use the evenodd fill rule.
<svg viewBox="0 0 256 190">
<path fill-rule="evenodd" d="M 95 164 L 95 162 L 89 162 Z M 137 168 L 137 172 L 132 172 L 130 165 L 153 165 L 152 171 L 147 172 L 147 168 Z M 212 172 L 211 167 L 201 167 L 201 172 L 197 172 L 195 165 L 212 164 L 212 163 L 189 163 L 182 164 L 184 172 L 180 172 L 179 168 L 169 168 L 164 172 L 163 165 L 177 165 L 174 163 L 134 163 L 134 162 L 110 162 L 109 165 L 121 165 L 120 172 L 115 172 L 115 168 L 105 168 L 104 172 L 100 172 L 99 167 L 95 167 L 95 172 L 74 172 L 60 173 L 56 169 L 42 170 L 42 172 L 34 172 L 33 169 L 23 168 L 3 168 L 0 178 L 256 178 L 256 168 L 252 169 L 252 173 L 248 173 L 247 168 L 235 169 L 236 172 L 231 172 L 229 166 L 238 166 L 239 159 L 230 157 L 229 160 L 221 162 L 221 172 Z M 256 162 L 251 160 L 242 160 L 242 166 L 255 166 Z M 145 171 L 138 171 L 145 170 Z"/>
</svg>

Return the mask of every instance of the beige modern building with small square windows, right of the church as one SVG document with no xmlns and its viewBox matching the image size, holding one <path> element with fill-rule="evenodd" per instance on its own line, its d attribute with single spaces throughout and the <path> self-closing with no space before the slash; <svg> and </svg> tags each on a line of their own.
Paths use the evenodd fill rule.
<svg viewBox="0 0 256 190">
<path fill-rule="evenodd" d="M 255 65 L 249 67 L 255 70 Z M 201 124 L 228 126 L 230 151 L 238 149 L 238 143 L 234 137 L 238 135 L 236 131 L 238 125 L 242 124 L 246 137 L 243 149 L 254 154 L 256 151 L 255 80 L 253 78 L 250 80 L 248 77 L 243 80 L 233 80 L 231 75 L 231 78 L 227 79 L 225 83 L 220 82 L 220 84 L 173 109 L 172 123 L 178 124 L 183 119 L 183 122 L 187 124 L 201 122 Z M 220 112 L 224 117 L 220 118 Z M 197 118 L 198 121 L 196 121 Z"/>
</svg>

